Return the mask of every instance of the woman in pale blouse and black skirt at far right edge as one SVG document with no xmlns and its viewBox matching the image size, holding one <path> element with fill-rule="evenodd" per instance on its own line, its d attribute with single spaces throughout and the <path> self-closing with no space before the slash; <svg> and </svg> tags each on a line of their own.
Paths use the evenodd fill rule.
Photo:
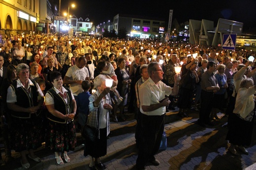
<svg viewBox="0 0 256 170">
<path fill-rule="evenodd" d="M 256 94 L 256 85 L 253 80 L 248 78 L 242 80 L 236 97 L 235 109 L 229 115 L 232 119 L 228 120 L 229 127 L 226 135 L 226 140 L 230 143 L 228 150 L 234 155 L 239 155 L 236 149 L 249 154 L 244 146 L 251 145 L 252 140 L 255 117 L 254 94 Z"/>
</svg>

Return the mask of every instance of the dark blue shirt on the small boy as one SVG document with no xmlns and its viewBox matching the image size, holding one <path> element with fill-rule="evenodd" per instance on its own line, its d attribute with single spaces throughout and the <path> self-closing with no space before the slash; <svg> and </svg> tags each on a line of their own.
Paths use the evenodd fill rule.
<svg viewBox="0 0 256 170">
<path fill-rule="evenodd" d="M 78 108 L 78 112 L 79 114 L 88 114 L 89 113 L 89 97 L 91 96 L 91 94 L 89 93 L 89 91 L 87 92 L 82 92 L 79 93 L 77 95 L 77 99 L 76 99 L 76 106 Z"/>
</svg>

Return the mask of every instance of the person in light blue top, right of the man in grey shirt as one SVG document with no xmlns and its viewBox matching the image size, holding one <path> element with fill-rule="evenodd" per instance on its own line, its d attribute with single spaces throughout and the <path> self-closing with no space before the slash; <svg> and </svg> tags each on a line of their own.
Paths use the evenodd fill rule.
<svg viewBox="0 0 256 170">
<path fill-rule="evenodd" d="M 216 119 L 216 120 L 220 119 L 217 116 L 217 113 L 219 110 L 222 110 L 222 106 L 223 106 L 223 102 L 224 102 L 224 95 L 226 92 L 226 88 L 228 87 L 226 75 L 224 74 L 224 70 L 225 70 L 225 65 L 220 64 L 217 67 L 218 73 L 215 74 L 215 78 L 218 81 L 220 90 L 217 91 L 216 93 L 214 93 L 214 97 L 213 97 L 214 103 L 213 103 L 211 118 Z"/>
</svg>

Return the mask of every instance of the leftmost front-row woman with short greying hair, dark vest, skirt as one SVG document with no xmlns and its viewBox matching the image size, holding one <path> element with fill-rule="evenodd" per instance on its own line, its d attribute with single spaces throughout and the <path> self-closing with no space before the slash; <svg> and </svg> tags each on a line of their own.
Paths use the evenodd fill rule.
<svg viewBox="0 0 256 170">
<path fill-rule="evenodd" d="M 7 107 L 11 111 L 13 132 L 11 134 L 14 149 L 21 154 L 21 165 L 28 169 L 29 158 L 41 162 L 34 151 L 42 144 L 42 118 L 40 115 L 43 104 L 43 93 L 37 83 L 29 79 L 30 68 L 21 63 L 16 68 L 18 80 L 13 81 L 7 90 Z"/>
</svg>

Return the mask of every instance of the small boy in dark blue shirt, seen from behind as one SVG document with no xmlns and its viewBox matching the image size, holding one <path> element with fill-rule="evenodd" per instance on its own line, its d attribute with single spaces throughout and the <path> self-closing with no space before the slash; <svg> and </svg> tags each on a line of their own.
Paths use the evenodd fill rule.
<svg viewBox="0 0 256 170">
<path fill-rule="evenodd" d="M 76 106 L 78 111 L 78 122 L 81 125 L 81 131 L 83 130 L 85 123 L 87 121 L 87 116 L 89 114 L 89 97 L 91 94 L 89 90 L 91 89 L 91 82 L 85 80 L 82 82 L 83 92 L 77 95 Z"/>
</svg>

